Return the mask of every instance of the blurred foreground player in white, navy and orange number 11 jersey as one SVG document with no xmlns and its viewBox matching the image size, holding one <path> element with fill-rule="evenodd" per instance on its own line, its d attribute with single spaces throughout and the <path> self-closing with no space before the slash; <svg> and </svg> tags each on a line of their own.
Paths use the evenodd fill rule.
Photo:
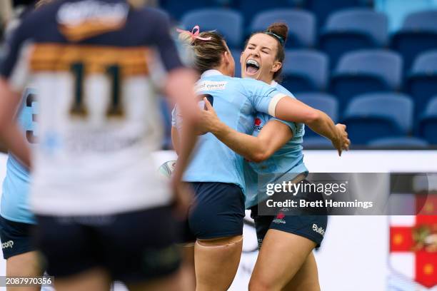
<svg viewBox="0 0 437 291">
<path fill-rule="evenodd" d="M 189 205 L 180 181 L 195 141 L 195 76 L 181 66 L 167 16 L 139 4 L 54 1 L 24 19 L 0 67 L 0 136 L 31 165 L 36 240 L 59 291 L 108 290 L 111 280 L 184 290 L 174 210 Z M 188 121 L 172 189 L 151 159 L 161 127 L 151 82 L 158 52 L 166 93 Z M 28 81 L 39 93 L 33 158 L 13 119 Z"/>
</svg>

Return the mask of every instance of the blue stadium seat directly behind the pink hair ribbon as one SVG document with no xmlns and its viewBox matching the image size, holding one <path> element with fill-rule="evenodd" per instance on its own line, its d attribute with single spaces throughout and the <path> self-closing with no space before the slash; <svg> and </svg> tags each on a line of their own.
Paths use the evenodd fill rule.
<svg viewBox="0 0 437 291">
<path fill-rule="evenodd" d="M 182 17 L 182 24 L 191 30 L 199 25 L 201 31 L 216 30 L 222 34 L 230 48 L 240 48 L 243 37 L 243 17 L 231 9 L 198 9 Z"/>
</svg>

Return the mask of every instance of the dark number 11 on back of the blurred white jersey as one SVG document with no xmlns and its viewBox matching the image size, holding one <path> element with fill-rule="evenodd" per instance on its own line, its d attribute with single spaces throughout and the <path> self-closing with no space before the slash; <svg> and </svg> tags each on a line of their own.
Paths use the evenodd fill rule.
<svg viewBox="0 0 437 291">
<path fill-rule="evenodd" d="M 84 63 L 73 63 L 71 71 L 74 74 L 74 102 L 70 113 L 73 116 L 83 116 L 88 114 L 84 103 L 84 78 L 86 68 Z M 106 75 L 111 81 L 111 102 L 106 110 L 108 117 L 120 117 L 124 115 L 120 93 L 120 67 L 117 65 L 106 67 Z"/>
</svg>

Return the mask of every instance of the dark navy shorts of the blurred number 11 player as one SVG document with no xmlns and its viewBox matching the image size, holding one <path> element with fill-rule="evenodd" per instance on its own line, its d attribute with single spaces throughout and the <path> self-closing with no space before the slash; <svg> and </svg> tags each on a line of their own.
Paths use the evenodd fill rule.
<svg viewBox="0 0 437 291">
<path fill-rule="evenodd" d="M 176 223 L 170 207 L 104 216 L 36 216 L 37 246 L 50 275 L 103 267 L 111 279 L 144 282 L 179 269 Z"/>
</svg>

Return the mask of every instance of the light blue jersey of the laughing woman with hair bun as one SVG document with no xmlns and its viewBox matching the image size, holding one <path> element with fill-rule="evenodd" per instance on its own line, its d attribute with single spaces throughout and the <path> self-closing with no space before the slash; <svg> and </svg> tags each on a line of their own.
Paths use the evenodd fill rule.
<svg viewBox="0 0 437 291">
<path fill-rule="evenodd" d="M 293 94 L 275 81 L 271 86 L 281 93 L 295 98 Z M 253 123 L 252 136 L 258 136 L 259 132 L 271 119 L 281 121 L 278 118 L 269 116 L 265 113 L 258 113 Z M 301 143 L 305 134 L 305 125 L 303 123 L 293 123 L 281 121 L 291 128 L 293 138 L 288 141 L 282 148 L 276 150 L 273 155 L 261 163 L 245 163 L 244 176 L 246 179 L 246 208 L 251 208 L 259 202 L 266 200 L 266 184 L 282 183 L 296 177 L 300 173 L 308 174 L 308 169 L 303 163 L 303 153 Z"/>
</svg>

